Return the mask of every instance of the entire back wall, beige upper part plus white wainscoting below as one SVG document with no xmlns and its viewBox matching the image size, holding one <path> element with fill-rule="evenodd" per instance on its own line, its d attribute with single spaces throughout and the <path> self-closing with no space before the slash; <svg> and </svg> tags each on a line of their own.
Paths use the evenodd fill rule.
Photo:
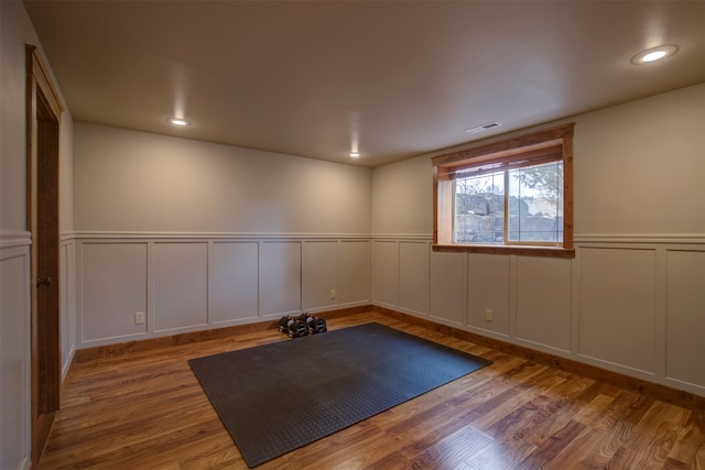
<svg viewBox="0 0 705 470">
<path fill-rule="evenodd" d="M 370 303 L 369 168 L 74 128 L 78 348 Z"/>
</svg>

